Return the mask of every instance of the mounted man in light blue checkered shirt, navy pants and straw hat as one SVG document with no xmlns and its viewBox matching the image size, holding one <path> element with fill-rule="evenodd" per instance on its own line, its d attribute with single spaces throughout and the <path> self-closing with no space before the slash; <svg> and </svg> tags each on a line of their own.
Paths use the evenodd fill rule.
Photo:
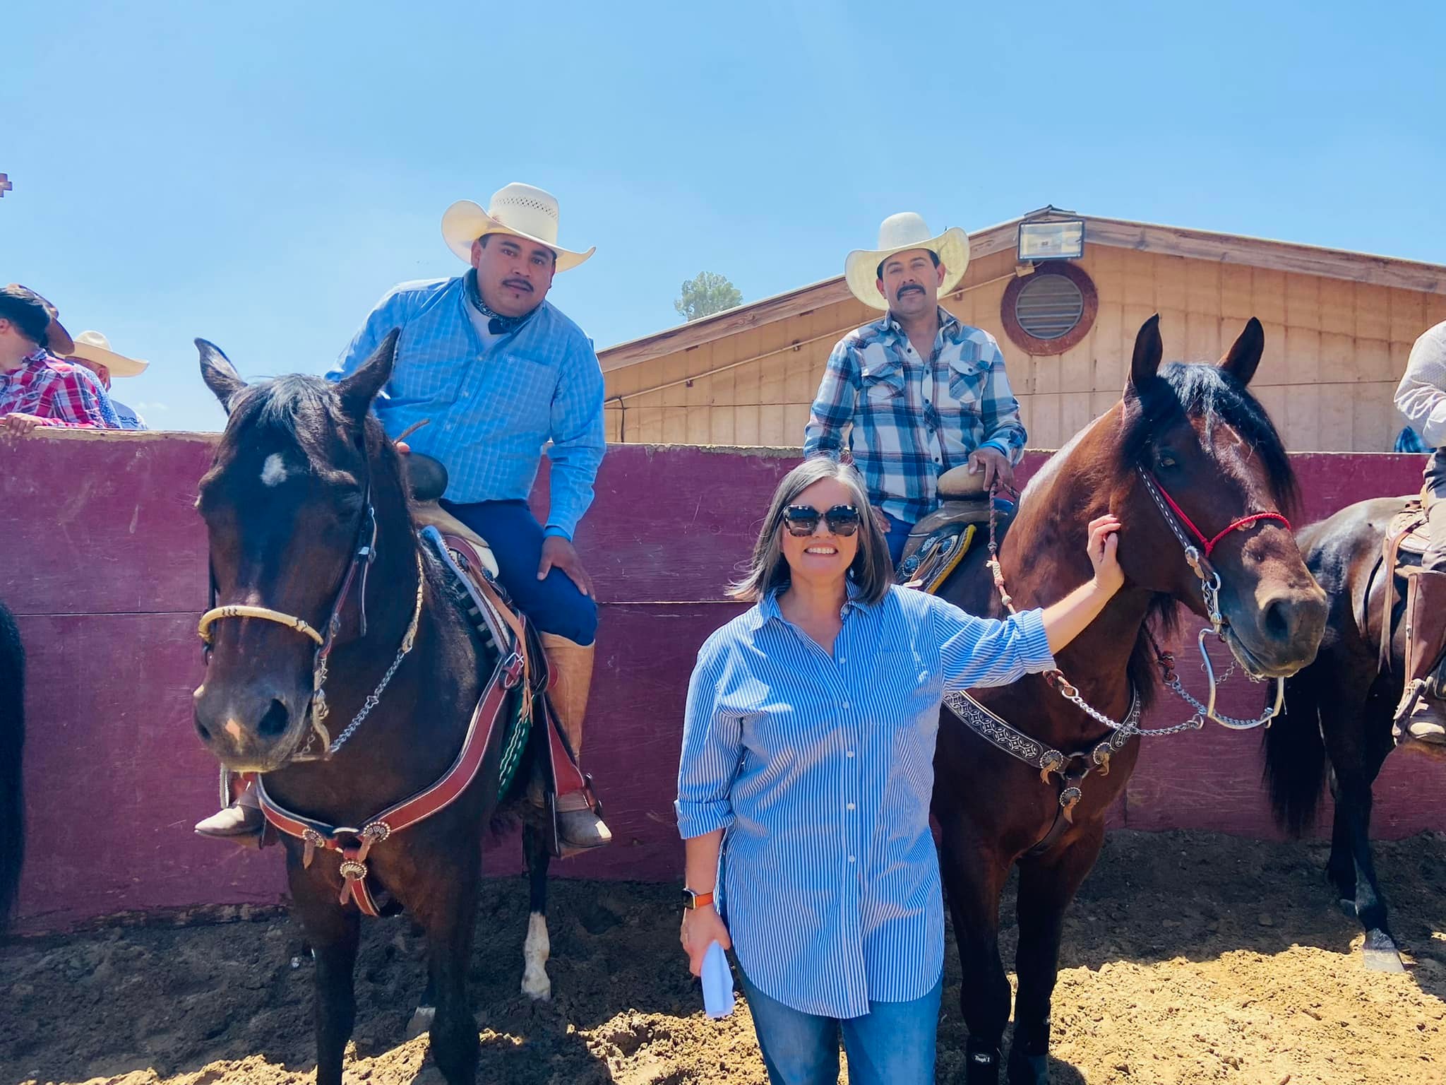
<svg viewBox="0 0 1446 1085">
<path fill-rule="evenodd" d="M 401 328 L 376 414 L 393 438 L 427 422 L 409 447 L 445 466 L 445 511 L 487 541 L 497 579 L 541 634 L 552 706 L 577 757 L 597 603 L 573 532 L 593 501 L 606 443 L 591 340 L 547 302 L 552 276 L 593 250 L 562 249 L 557 233 L 557 200 L 541 188 L 506 185 L 486 211 L 458 200 L 442 216 L 442 237 L 471 268 L 396 286 L 327 376 L 347 376 Z M 552 461 L 551 508 L 539 524 L 528 495 L 544 446 Z M 612 839 L 586 790 L 557 796 L 557 823 L 568 849 Z M 260 825 L 259 810 L 236 804 L 197 830 L 234 836 Z"/>
</svg>

